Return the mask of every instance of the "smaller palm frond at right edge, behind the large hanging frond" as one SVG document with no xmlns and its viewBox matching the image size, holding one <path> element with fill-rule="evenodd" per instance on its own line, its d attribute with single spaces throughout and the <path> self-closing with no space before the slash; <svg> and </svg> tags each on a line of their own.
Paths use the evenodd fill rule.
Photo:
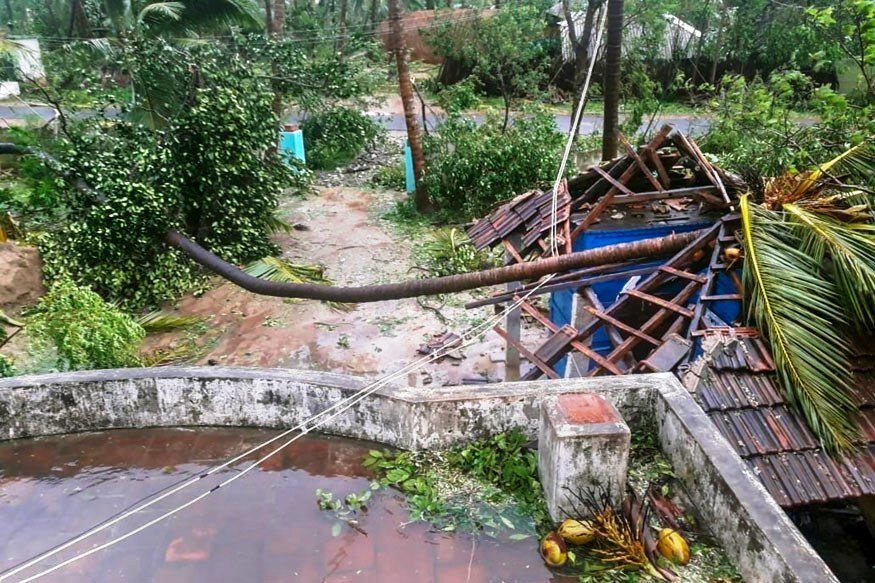
<svg viewBox="0 0 875 583">
<path fill-rule="evenodd" d="M 875 225 L 844 223 L 810 212 L 800 205 L 784 205 L 799 225 L 800 251 L 823 265 L 832 261 L 839 302 L 859 330 L 875 330 Z"/>
</svg>

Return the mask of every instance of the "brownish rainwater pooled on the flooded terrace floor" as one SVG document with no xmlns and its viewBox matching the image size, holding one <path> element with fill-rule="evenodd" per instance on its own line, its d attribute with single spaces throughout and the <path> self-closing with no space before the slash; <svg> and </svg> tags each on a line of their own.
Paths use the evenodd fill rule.
<svg viewBox="0 0 875 583">
<path fill-rule="evenodd" d="M 150 429 L 0 442 L 0 571 L 274 435 L 250 429 Z M 407 524 L 403 497 L 392 490 L 372 498 L 360 517 L 364 532 L 346 524 L 338 532 L 333 514 L 318 509 L 315 490 L 345 496 L 366 489 L 369 478 L 361 460 L 370 447 L 304 437 L 173 518 L 42 580 L 572 580 L 551 579 L 534 541 L 496 543 Z M 120 536 L 246 465 L 241 461 L 217 473 L 216 480 L 201 480 L 44 566 Z"/>
</svg>

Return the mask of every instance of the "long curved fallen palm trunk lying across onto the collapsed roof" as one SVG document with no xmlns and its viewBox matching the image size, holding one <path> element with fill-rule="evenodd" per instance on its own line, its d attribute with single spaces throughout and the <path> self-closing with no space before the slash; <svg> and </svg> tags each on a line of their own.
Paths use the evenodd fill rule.
<svg viewBox="0 0 875 583">
<path fill-rule="evenodd" d="M 396 0 L 392 1 L 395 2 Z M 179 233 L 171 231 L 167 234 L 165 240 L 171 246 L 191 257 L 198 264 L 252 293 L 284 298 L 358 304 L 456 293 L 512 281 L 536 279 L 550 273 L 562 273 L 581 267 L 670 255 L 677 253 L 705 233 L 707 233 L 707 229 L 631 243 L 619 243 L 608 247 L 599 247 L 598 249 L 549 257 L 539 261 L 517 263 L 507 267 L 497 267 L 495 269 L 463 273 L 461 275 L 415 279 L 402 283 L 362 287 L 333 287 L 317 284 L 268 281 L 245 273 L 237 266 L 224 261 Z"/>
</svg>

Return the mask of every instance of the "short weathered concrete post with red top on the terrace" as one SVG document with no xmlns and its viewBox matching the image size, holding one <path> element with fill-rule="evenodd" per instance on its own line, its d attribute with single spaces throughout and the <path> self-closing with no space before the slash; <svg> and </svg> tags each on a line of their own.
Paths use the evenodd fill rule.
<svg viewBox="0 0 875 583">
<path fill-rule="evenodd" d="M 596 393 L 541 400 L 538 473 L 556 522 L 580 507 L 571 492 L 604 488 L 616 503 L 626 488 L 632 434 L 623 418 Z"/>
</svg>

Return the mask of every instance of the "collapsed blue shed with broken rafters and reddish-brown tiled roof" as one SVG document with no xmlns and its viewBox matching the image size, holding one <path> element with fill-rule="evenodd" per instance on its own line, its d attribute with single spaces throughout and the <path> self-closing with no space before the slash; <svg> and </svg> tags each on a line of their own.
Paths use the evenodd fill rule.
<svg viewBox="0 0 875 583">
<path fill-rule="evenodd" d="M 520 304 L 544 330 L 520 341 L 511 315 L 496 332 L 508 364 L 519 354 L 524 379 L 674 372 L 736 452 L 785 508 L 875 500 L 875 349 L 857 342 L 854 400 L 863 442 L 830 457 L 783 397 L 768 346 L 746 326 L 743 253 L 734 201 L 744 188 L 709 163 L 696 143 L 662 130 L 624 157 L 569 179 L 558 196 L 560 252 L 697 231 L 672 255 L 560 274 Z M 509 263 L 548 255 L 552 193 L 532 191 L 468 228 L 477 248 L 501 246 Z M 525 284 L 468 304 L 521 300 Z M 549 296 L 548 306 L 539 305 Z M 513 371 L 509 371 L 509 376 Z M 870 520 L 875 519 L 875 516 Z"/>
</svg>

